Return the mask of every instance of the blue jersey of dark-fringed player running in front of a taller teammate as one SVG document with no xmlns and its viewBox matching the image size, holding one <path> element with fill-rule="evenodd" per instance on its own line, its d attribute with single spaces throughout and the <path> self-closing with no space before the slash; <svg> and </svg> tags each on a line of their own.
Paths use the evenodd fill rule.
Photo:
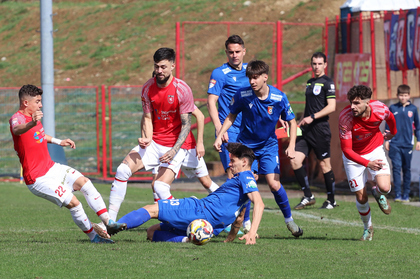
<svg viewBox="0 0 420 279">
<path fill-rule="evenodd" d="M 265 100 L 258 99 L 251 87 L 242 88 L 229 107 L 232 114 L 242 112 L 238 141 L 252 149 L 277 144 L 276 125 L 280 115 L 285 121 L 295 118 L 286 94 L 271 85 L 268 88 Z"/>
</svg>

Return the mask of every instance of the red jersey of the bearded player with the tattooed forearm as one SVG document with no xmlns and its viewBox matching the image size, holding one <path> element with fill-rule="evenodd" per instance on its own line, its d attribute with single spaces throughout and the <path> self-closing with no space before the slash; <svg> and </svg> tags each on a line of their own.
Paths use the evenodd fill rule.
<svg viewBox="0 0 420 279">
<path fill-rule="evenodd" d="M 191 88 L 175 77 L 168 86 L 160 88 L 155 78 L 152 78 L 143 86 L 141 98 L 143 112 L 152 114 L 153 141 L 173 147 L 181 132 L 181 114 L 196 109 Z M 181 148 L 193 149 L 195 145 L 195 138 L 190 131 Z"/>
</svg>

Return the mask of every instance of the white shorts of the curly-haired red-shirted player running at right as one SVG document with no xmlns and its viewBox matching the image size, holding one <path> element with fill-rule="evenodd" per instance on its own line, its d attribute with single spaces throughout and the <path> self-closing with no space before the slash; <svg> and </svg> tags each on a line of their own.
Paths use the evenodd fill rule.
<svg viewBox="0 0 420 279">
<path fill-rule="evenodd" d="M 371 176 L 371 179 L 374 180 L 375 176 L 378 174 L 391 174 L 389 163 L 382 145 L 377 147 L 372 152 L 361 156 L 369 161 L 381 159 L 385 165 L 379 171 L 374 171 L 368 167 L 362 166 L 347 159 L 343 154 L 344 169 L 346 171 L 349 187 L 352 192 L 362 190 L 365 187 L 365 183 L 368 180 L 369 175 Z"/>
</svg>

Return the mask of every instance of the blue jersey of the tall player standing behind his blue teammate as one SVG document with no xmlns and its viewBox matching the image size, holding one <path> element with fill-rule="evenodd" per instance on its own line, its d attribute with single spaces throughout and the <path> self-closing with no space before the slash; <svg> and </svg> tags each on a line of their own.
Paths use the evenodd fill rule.
<svg viewBox="0 0 420 279">
<path fill-rule="evenodd" d="M 233 95 L 242 87 L 249 86 L 249 79 L 247 78 L 246 63 L 242 64 L 240 71 L 233 69 L 229 63 L 223 64 L 216 68 L 211 73 L 208 94 L 219 96 L 217 100 L 219 120 L 220 123 L 225 121 L 229 114 L 229 103 Z M 239 126 L 241 125 L 241 115 L 238 115 L 235 123 L 229 129 L 231 132 L 239 133 Z"/>
</svg>

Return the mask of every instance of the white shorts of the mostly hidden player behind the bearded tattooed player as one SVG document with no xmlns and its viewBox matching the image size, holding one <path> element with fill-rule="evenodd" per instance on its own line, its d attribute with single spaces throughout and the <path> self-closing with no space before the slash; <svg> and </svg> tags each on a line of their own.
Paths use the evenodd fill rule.
<svg viewBox="0 0 420 279">
<path fill-rule="evenodd" d="M 204 158 L 200 160 L 197 158 L 197 151 L 194 149 L 185 150 L 185 158 L 181 164 L 181 171 L 188 177 L 203 177 L 209 174 Z M 159 166 L 153 168 L 152 174 L 159 172 Z M 177 174 L 177 173 L 176 173 Z"/>
</svg>

